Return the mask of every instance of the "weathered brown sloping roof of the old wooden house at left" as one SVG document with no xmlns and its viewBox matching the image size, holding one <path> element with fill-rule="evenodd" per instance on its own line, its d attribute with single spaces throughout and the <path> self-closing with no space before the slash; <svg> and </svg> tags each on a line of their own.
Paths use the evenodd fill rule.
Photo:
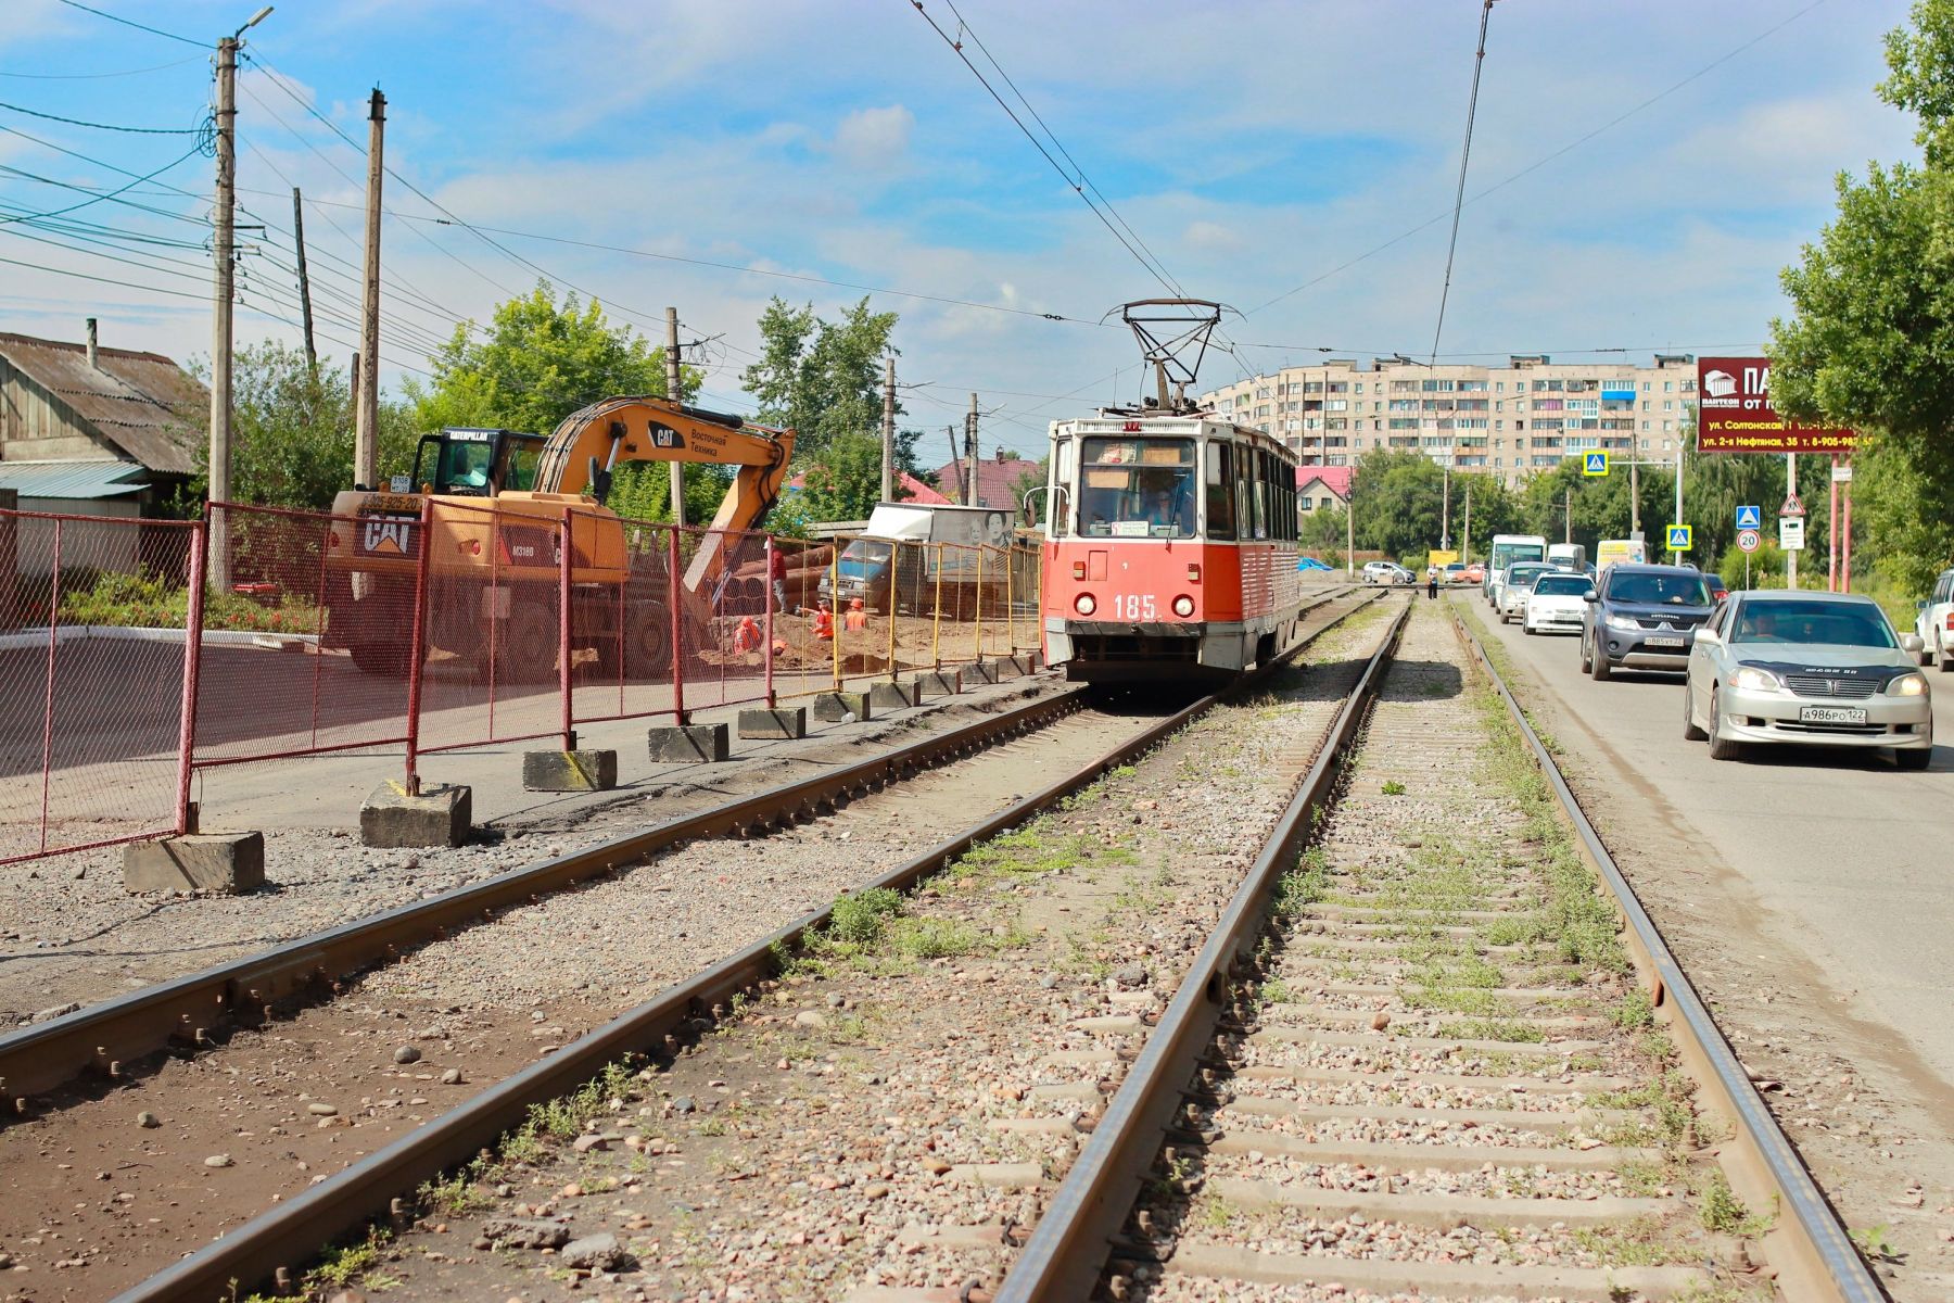
<svg viewBox="0 0 1954 1303">
<path fill-rule="evenodd" d="M 66 402 L 133 461 L 164 475 L 190 475 L 211 393 L 162 354 L 96 350 L 31 334 L 0 332 L 0 356 Z"/>
</svg>

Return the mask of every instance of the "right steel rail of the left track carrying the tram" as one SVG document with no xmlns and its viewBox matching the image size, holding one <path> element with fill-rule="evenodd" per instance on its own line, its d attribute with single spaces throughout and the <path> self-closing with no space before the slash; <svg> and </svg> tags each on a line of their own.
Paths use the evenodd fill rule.
<svg viewBox="0 0 1954 1303">
<path fill-rule="evenodd" d="M 1354 611 L 1366 609 L 1376 598 L 1352 606 L 1323 625 L 1268 666 L 1247 674 L 1186 709 L 1151 725 L 1141 735 L 1114 746 L 1098 760 L 1073 770 L 1043 789 L 1014 801 L 1010 807 L 938 842 L 920 856 L 891 869 L 860 889 L 889 887 L 903 891 L 918 879 L 948 867 L 977 842 L 1020 826 L 1032 815 L 1055 805 L 1102 774 L 1127 764 L 1145 750 L 1213 709 L 1221 699 L 1260 682 L 1280 668 L 1315 637 L 1333 629 Z M 1317 604 L 1323 606 L 1323 604 Z M 1399 613 L 1395 631 L 1403 625 Z M 1372 674 L 1366 670 L 1364 682 Z M 1348 715 L 1348 709 L 1346 709 Z M 1342 717 L 1338 717 L 1342 723 Z M 715 1004 L 752 988 L 776 971 L 778 955 L 791 951 L 811 930 L 827 924 L 830 910 L 809 910 L 772 936 L 746 946 L 709 969 L 666 987 L 651 1000 L 619 1014 L 602 1028 L 578 1037 L 557 1053 L 498 1082 L 385 1149 L 340 1170 L 332 1178 L 277 1203 L 252 1221 L 227 1231 L 223 1239 L 174 1262 L 156 1276 L 115 1295 L 113 1303 L 213 1303 L 233 1297 L 236 1289 L 272 1280 L 320 1252 L 336 1237 L 365 1225 L 389 1211 L 391 1203 L 420 1184 L 463 1164 L 490 1149 L 506 1131 L 520 1125 L 530 1106 L 565 1096 L 596 1076 L 606 1065 L 633 1053 L 660 1047 L 666 1037 L 686 1030 Z"/>
</svg>

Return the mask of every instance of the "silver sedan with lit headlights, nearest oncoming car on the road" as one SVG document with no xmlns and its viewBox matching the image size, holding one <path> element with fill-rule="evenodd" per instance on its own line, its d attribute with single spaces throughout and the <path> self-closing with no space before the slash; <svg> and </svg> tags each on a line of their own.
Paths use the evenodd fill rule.
<svg viewBox="0 0 1954 1303">
<path fill-rule="evenodd" d="M 1872 598 L 1741 592 L 1696 633 L 1682 736 L 1708 740 L 1712 760 L 1747 742 L 1891 746 L 1901 770 L 1925 770 L 1934 711 L 1919 652 Z"/>
</svg>

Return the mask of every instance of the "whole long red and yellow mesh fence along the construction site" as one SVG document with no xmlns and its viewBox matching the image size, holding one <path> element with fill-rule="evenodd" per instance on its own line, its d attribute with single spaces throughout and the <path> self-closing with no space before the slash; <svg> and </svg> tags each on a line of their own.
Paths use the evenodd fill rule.
<svg viewBox="0 0 1954 1303">
<path fill-rule="evenodd" d="M 387 506 L 0 512 L 0 862 L 182 830 L 213 766 L 401 746 L 412 787 L 426 752 L 1038 645 L 1036 549 Z"/>
</svg>

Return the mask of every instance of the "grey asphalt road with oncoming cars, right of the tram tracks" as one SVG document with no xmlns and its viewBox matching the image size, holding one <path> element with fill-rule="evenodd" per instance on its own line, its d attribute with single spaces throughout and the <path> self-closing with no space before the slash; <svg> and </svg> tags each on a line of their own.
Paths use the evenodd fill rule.
<svg viewBox="0 0 1954 1303">
<path fill-rule="evenodd" d="M 1680 674 L 1616 670 L 1596 684 L 1575 635 L 1528 637 L 1473 602 L 1551 697 L 1561 744 L 1657 797 L 1768 912 L 1753 920 L 1763 936 L 1954 1090 L 1954 674 L 1927 672 L 1940 744 L 1925 774 L 1901 774 L 1886 750 L 1753 746 L 1747 760 L 1714 762 L 1704 742 L 1682 740 Z"/>
</svg>

